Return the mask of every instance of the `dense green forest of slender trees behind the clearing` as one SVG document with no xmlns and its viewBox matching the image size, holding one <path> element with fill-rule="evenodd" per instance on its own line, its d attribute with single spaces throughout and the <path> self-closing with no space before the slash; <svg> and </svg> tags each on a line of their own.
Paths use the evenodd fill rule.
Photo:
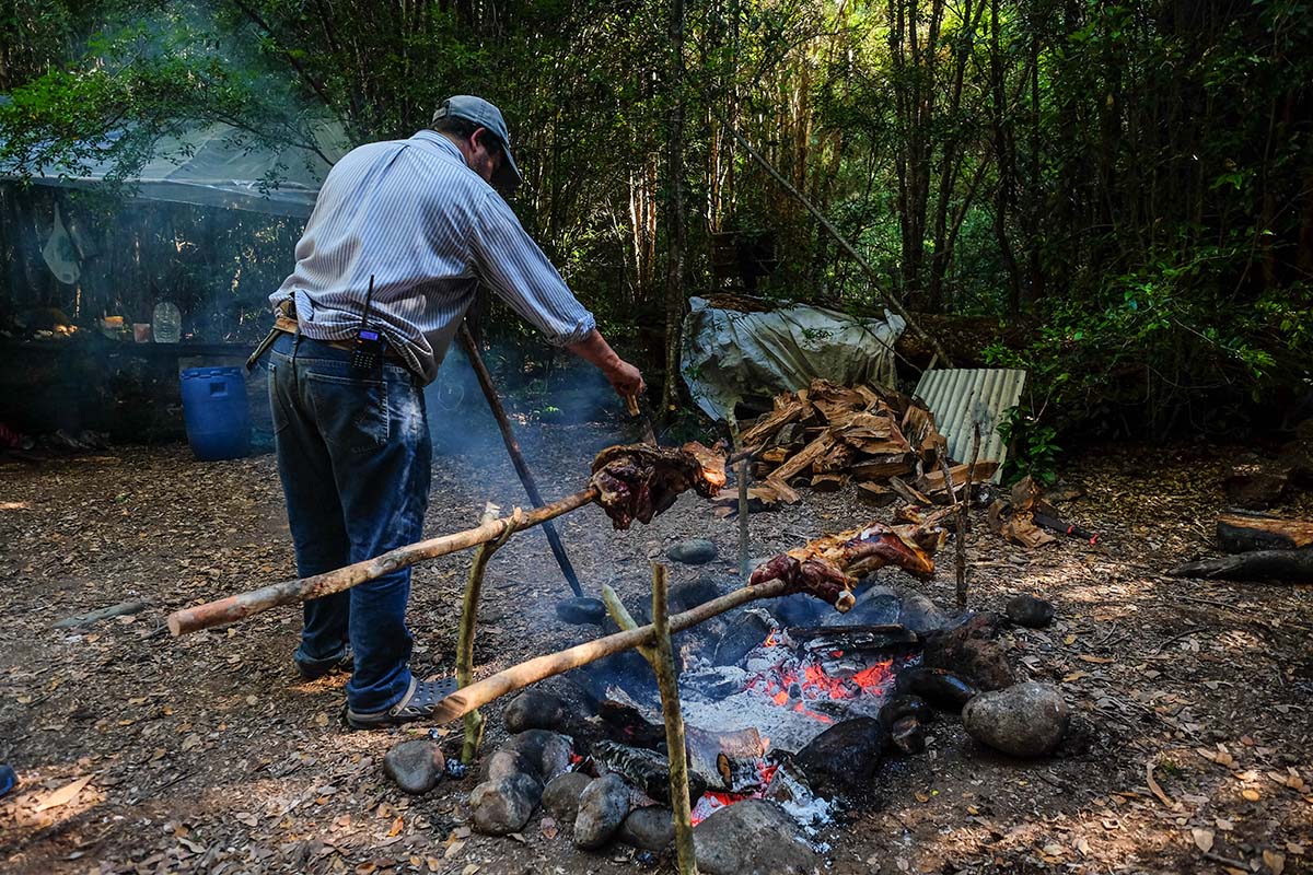
<svg viewBox="0 0 1313 875">
<path fill-rule="evenodd" d="M 109 156 L 130 177 L 198 123 L 255 148 L 314 144 L 327 119 L 362 143 L 478 93 L 509 119 L 516 213 L 651 382 L 714 286 L 714 235 L 735 231 L 777 261 L 768 298 L 880 314 L 882 291 L 1024 325 L 979 357 L 1031 370 L 1018 428 L 1040 453 L 1216 436 L 1279 428 L 1313 390 L 1310 5 L 0 0 L 0 161 L 76 176 Z M 60 195 L 81 227 L 114 216 L 134 239 L 104 248 L 79 316 L 131 283 L 264 327 L 303 220 L 129 194 Z M 0 185 L 13 311 L 74 307 L 32 257 L 49 203 Z"/>
</svg>

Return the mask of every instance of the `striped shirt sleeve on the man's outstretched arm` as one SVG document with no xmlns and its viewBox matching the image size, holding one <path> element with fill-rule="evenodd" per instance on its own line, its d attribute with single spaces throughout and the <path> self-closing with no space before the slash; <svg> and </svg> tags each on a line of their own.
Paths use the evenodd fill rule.
<svg viewBox="0 0 1313 875">
<path fill-rule="evenodd" d="M 491 192 L 475 210 L 470 249 L 479 279 L 549 342 L 567 346 L 597 325 L 511 207 Z"/>
</svg>

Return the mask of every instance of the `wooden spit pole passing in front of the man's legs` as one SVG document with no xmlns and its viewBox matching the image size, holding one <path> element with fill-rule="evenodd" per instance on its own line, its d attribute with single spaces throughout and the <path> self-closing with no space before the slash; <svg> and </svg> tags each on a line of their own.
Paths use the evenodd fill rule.
<svg viewBox="0 0 1313 875">
<path fill-rule="evenodd" d="M 542 525 L 548 519 L 578 510 L 587 504 L 592 504 L 597 499 L 597 495 L 596 487 L 588 487 L 583 492 L 576 492 L 559 501 L 544 505 L 524 514 L 517 529 L 530 529 Z M 457 531 L 450 535 L 441 535 L 440 538 L 429 538 L 428 540 L 397 547 L 381 556 L 357 561 L 353 565 L 337 568 L 336 571 L 285 580 L 261 586 L 260 589 L 252 589 L 247 593 L 238 593 L 236 596 L 206 602 L 205 605 L 184 607 L 169 614 L 168 630 L 177 638 L 179 635 L 194 632 L 201 628 L 234 623 L 278 605 L 291 605 L 309 598 L 320 598 L 332 593 L 340 593 L 366 580 L 382 577 L 398 568 L 406 568 L 407 565 L 414 565 L 428 559 L 460 552 L 461 550 L 500 538 L 511 525 L 511 521 L 512 518 L 503 517 L 481 525 L 477 529 L 467 529 L 466 531 Z"/>
</svg>

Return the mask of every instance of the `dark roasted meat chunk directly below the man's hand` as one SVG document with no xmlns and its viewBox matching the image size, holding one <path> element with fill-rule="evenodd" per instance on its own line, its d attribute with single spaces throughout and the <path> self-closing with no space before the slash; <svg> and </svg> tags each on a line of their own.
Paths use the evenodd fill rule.
<svg viewBox="0 0 1313 875">
<path fill-rule="evenodd" d="M 681 447 L 630 443 L 607 447 L 592 460 L 597 504 L 616 529 L 651 522 L 683 492 L 714 499 L 725 485 L 725 457 L 693 441 Z"/>
</svg>

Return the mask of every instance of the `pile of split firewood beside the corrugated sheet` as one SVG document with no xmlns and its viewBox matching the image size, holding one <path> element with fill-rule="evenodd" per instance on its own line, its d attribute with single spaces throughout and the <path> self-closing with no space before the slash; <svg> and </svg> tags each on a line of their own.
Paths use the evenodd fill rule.
<svg viewBox="0 0 1313 875">
<path fill-rule="evenodd" d="M 797 489 L 836 492 L 856 484 L 864 497 L 888 504 L 947 504 L 945 446 L 935 417 L 919 400 L 893 390 L 835 386 L 813 380 L 796 392 L 781 392 L 773 409 L 748 424 L 744 446 L 762 445 L 748 488 L 752 509 L 793 504 Z M 997 466 L 979 462 L 972 481 L 987 480 Z M 965 464 L 951 466 L 953 487 L 966 480 Z M 718 516 L 735 512 L 735 499 L 717 502 Z"/>
</svg>

